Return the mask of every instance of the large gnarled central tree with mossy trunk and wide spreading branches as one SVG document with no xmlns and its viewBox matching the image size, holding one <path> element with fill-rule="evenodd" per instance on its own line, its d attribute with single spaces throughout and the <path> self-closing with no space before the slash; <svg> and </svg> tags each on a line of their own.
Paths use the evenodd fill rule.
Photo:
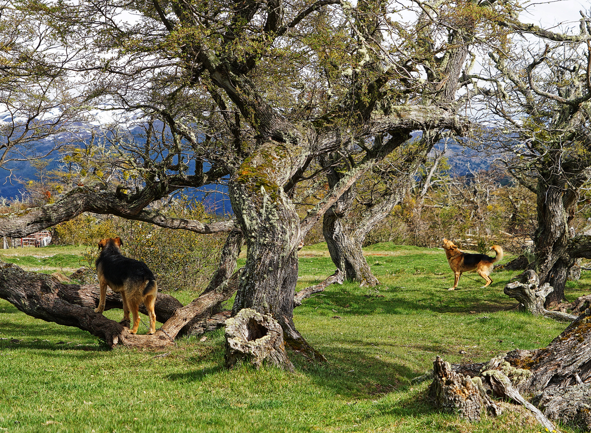
<svg viewBox="0 0 591 433">
<path fill-rule="evenodd" d="M 25 235 L 83 211 L 199 233 L 237 228 L 241 235 L 229 237 L 223 256 L 232 262 L 243 236 L 246 264 L 232 278 L 232 265 L 223 266 L 212 282 L 216 289 L 204 295 L 218 299 L 236 287 L 233 315 L 243 308 L 271 314 L 288 346 L 315 356 L 293 323 L 300 239 L 411 132 L 467 133 L 471 123 L 459 115 L 454 95 L 458 86 L 471 85 L 461 78 L 470 67 L 465 64 L 469 45 L 502 38 L 492 18 L 506 15 L 509 7 L 411 3 L 407 9 L 418 18 L 406 23 L 392 18 L 398 5 L 353 6 L 343 0 L 18 4 L 15 10 L 25 11 L 28 22 L 51 32 L 52 56 L 41 63 L 76 83 L 77 100 L 112 113 L 111 123 L 129 128 L 139 119 L 148 126 L 142 140 L 127 135 L 113 143 L 121 151 L 112 158 L 127 173 L 118 183 L 106 171 L 96 171 L 97 178 L 72 185 L 54 203 L 2 218 L 0 233 Z M 373 24 L 359 24 L 360 14 Z M 366 145 L 355 167 L 300 220 L 288 193 L 306 179 L 311 161 L 338 152 L 347 157 L 361 142 Z M 148 207 L 181 188 L 220 182 L 228 185 L 235 222 L 174 219 Z M 41 287 L 41 294 L 53 294 L 9 291 L 4 278 L 1 296 L 23 311 L 85 329 L 98 321 L 104 329 L 102 319 L 70 305 L 78 298 L 62 286 L 3 269 L 21 289 Z M 174 311 L 165 334 L 152 337 L 154 345 L 180 332 L 203 305 L 196 299 Z M 48 306 L 59 314 L 52 315 Z M 103 333 L 112 344 L 137 341 L 119 329 Z"/>
</svg>

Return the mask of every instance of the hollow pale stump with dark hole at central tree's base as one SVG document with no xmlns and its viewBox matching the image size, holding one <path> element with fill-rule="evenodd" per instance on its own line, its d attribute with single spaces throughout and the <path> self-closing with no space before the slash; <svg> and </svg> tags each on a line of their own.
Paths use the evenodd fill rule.
<svg viewBox="0 0 591 433">
<path fill-rule="evenodd" d="M 263 363 L 289 372 L 294 366 L 287 359 L 281 325 L 270 315 L 243 308 L 226 320 L 226 368 L 239 361 L 259 369 Z"/>
</svg>

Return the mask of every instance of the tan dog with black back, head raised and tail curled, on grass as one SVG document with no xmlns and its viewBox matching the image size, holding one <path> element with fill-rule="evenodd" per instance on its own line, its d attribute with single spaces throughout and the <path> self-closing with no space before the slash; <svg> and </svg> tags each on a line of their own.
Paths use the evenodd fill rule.
<svg viewBox="0 0 591 433">
<path fill-rule="evenodd" d="M 453 290 L 457 287 L 457 282 L 460 281 L 462 272 L 474 271 L 485 279 L 486 284 L 482 288 L 487 287 L 492 283 L 491 275 L 493 263 L 498 262 L 503 258 L 503 249 L 498 245 L 491 246 L 491 250 L 495 250 L 496 256 L 489 257 L 486 254 L 470 254 L 460 251 L 451 240 L 443 238 L 443 249 L 447 256 L 447 263 L 452 268 L 454 280 L 453 287 L 448 290 Z"/>
</svg>

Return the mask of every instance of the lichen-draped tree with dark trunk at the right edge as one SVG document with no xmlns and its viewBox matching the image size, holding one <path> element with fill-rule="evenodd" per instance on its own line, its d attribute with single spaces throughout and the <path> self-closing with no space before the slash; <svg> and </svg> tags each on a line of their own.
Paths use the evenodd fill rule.
<svg viewBox="0 0 591 433">
<path fill-rule="evenodd" d="M 591 177 L 591 24 L 582 16 L 578 34 L 501 22 L 535 40 L 521 47 L 521 56 L 491 53 L 496 73 L 488 80 L 494 85 L 481 90 L 488 108 L 502 119 L 489 138 L 515 155 L 508 171 L 537 197 L 535 270 L 554 288 L 547 305 L 564 298 L 573 260 L 589 256 L 581 248 L 588 240 L 576 239 L 580 250 L 574 250 L 569 235 L 581 188 Z"/>
</svg>

